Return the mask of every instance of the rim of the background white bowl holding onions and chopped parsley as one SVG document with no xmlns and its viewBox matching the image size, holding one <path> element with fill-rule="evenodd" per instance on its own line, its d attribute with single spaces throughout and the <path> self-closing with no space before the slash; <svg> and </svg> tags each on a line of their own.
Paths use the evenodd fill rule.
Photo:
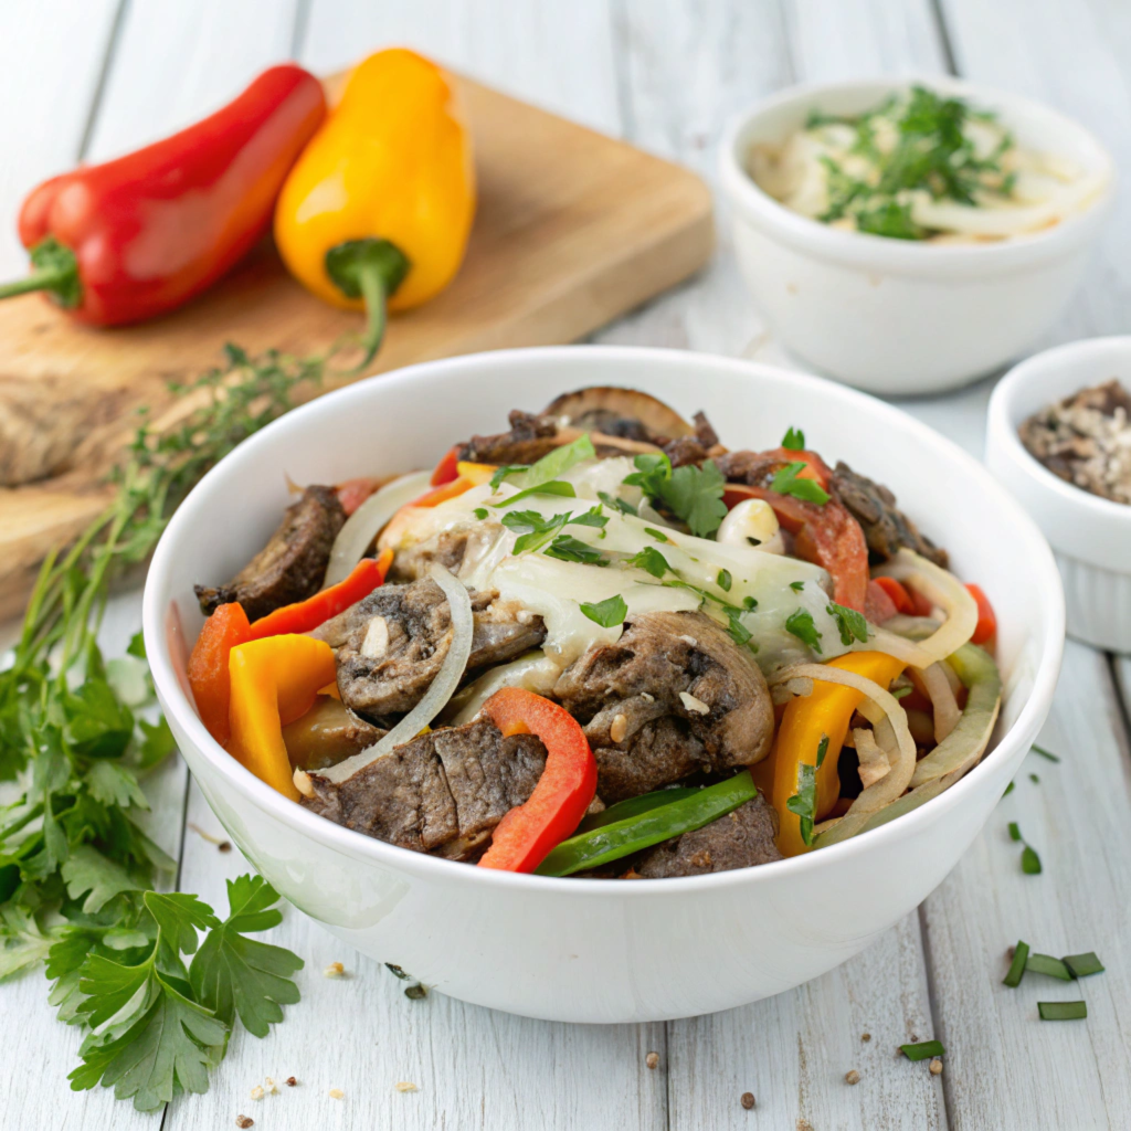
<svg viewBox="0 0 1131 1131">
<path fill-rule="evenodd" d="M 918 240 L 891 240 L 870 232 L 848 232 L 830 227 L 820 221 L 802 216 L 775 200 L 762 190 L 746 172 L 739 156 L 741 136 L 758 119 L 782 106 L 797 102 L 815 101 L 872 88 L 898 90 L 912 85 L 932 87 L 968 98 L 972 102 L 1000 106 L 1008 118 L 1011 110 L 1025 111 L 1054 122 L 1061 130 L 1077 133 L 1090 145 L 1106 173 L 1105 184 L 1096 197 L 1080 211 L 1054 227 L 1015 236 L 995 243 L 932 244 Z M 1000 269 L 1015 270 L 1037 260 L 1056 258 L 1076 248 L 1088 234 L 1091 225 L 1103 217 L 1111 206 L 1115 191 L 1115 161 L 1105 145 L 1074 119 L 1033 98 L 1002 90 L 999 87 L 949 75 L 909 72 L 891 77 L 854 78 L 824 83 L 800 83 L 734 114 L 723 131 L 719 145 L 719 174 L 732 202 L 746 218 L 765 224 L 796 245 L 815 254 L 839 259 L 866 267 L 891 271 L 924 271 L 931 268 L 940 274 L 949 270 Z"/>
</svg>

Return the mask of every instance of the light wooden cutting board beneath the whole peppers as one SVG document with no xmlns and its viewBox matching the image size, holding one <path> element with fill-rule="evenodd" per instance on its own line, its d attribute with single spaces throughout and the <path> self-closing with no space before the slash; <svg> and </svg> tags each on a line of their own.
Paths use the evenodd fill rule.
<svg viewBox="0 0 1131 1131">
<path fill-rule="evenodd" d="M 340 77 L 328 83 L 333 96 Z M 379 373 L 413 362 L 582 337 L 688 277 L 713 244 L 693 173 L 469 80 L 480 205 L 467 259 L 438 299 L 390 320 Z M 136 409 L 173 405 L 234 342 L 326 349 L 361 316 L 311 297 L 268 244 L 219 286 L 141 326 L 79 326 L 41 295 L 0 303 L 0 620 L 19 613 L 52 546 L 107 498 Z"/>
</svg>

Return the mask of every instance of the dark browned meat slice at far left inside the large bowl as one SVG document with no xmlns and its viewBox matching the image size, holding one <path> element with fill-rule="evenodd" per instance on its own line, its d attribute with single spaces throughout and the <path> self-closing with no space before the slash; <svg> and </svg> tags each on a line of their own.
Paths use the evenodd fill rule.
<svg viewBox="0 0 1131 1131">
<path fill-rule="evenodd" d="M 200 611 L 239 601 L 249 621 L 312 597 L 322 587 L 330 550 L 346 520 L 333 487 L 309 486 L 270 541 L 227 585 L 196 586 Z"/>
</svg>

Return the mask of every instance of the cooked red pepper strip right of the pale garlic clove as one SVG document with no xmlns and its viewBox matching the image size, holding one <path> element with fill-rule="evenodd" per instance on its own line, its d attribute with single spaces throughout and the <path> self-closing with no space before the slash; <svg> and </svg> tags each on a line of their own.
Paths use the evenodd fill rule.
<svg viewBox="0 0 1131 1131">
<path fill-rule="evenodd" d="M 822 566 L 832 577 L 832 599 L 846 608 L 864 611 L 867 595 L 867 543 L 860 523 L 836 499 L 826 503 L 805 502 L 793 495 L 727 483 L 723 502 L 727 510 L 743 499 L 765 499 L 782 526 L 794 535 L 794 552 L 805 561 Z"/>
</svg>

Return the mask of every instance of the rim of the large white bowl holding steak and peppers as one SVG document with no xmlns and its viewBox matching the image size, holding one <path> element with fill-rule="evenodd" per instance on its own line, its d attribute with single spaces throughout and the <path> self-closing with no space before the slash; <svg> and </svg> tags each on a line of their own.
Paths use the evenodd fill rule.
<svg viewBox="0 0 1131 1131">
<path fill-rule="evenodd" d="M 235 451 L 209 470 L 201 483 L 226 476 L 230 474 L 231 468 L 238 468 L 240 464 L 250 461 L 253 459 L 256 450 L 279 432 L 300 432 L 304 426 L 304 422 L 319 413 L 336 414 L 338 406 L 343 403 L 368 399 L 374 381 L 380 382 L 382 386 L 403 385 L 418 379 L 422 374 L 442 377 L 444 373 L 451 371 L 459 372 L 468 369 L 486 369 L 490 371 L 502 364 L 537 365 L 544 359 L 566 359 L 579 354 L 587 354 L 595 360 L 612 359 L 614 363 L 620 359 L 628 363 L 625 365 L 627 370 L 637 366 L 638 372 L 647 364 L 671 365 L 690 363 L 705 369 L 744 375 L 750 375 L 751 372 L 766 373 L 779 379 L 787 379 L 796 387 L 798 398 L 804 397 L 806 394 L 813 394 L 840 398 L 851 403 L 863 400 L 869 404 L 872 412 L 879 412 L 881 416 L 889 417 L 892 425 L 910 430 L 918 437 L 923 444 L 942 449 L 949 458 L 964 464 L 968 469 L 981 476 L 984 491 L 993 495 L 1001 507 L 1011 512 L 1021 537 L 1027 543 L 1026 549 L 1033 570 L 1043 576 L 1045 584 L 1042 588 L 1046 589 L 1052 597 L 1051 603 L 1043 610 L 1051 644 L 1041 656 L 1026 703 L 1022 706 L 1009 732 L 1002 736 L 998 746 L 949 789 L 912 812 L 889 821 L 878 829 L 863 834 L 861 837 L 853 837 L 818 852 L 805 853 L 801 856 L 775 861 L 757 867 L 735 869 L 707 875 L 642 880 L 632 883 L 611 883 L 607 880 L 575 878 L 566 880 L 558 877 L 541 877 L 502 872 L 493 869 L 480 869 L 456 864 L 452 861 L 429 856 L 408 848 L 399 848 L 396 845 L 368 837 L 362 832 L 356 832 L 353 829 L 347 829 L 323 817 L 319 817 L 295 804 L 288 797 L 284 797 L 269 785 L 259 780 L 259 778 L 251 774 L 250 770 L 244 769 L 240 762 L 211 737 L 193 710 L 188 697 L 184 694 L 169 655 L 165 632 L 165 610 L 158 607 L 158 586 L 153 584 L 153 579 L 155 577 L 159 578 L 166 571 L 169 563 L 175 555 L 180 530 L 188 525 L 189 516 L 195 509 L 193 495 L 198 499 L 202 498 L 198 485 L 193 492 L 190 492 L 184 502 L 181 503 L 161 537 L 149 567 L 141 616 L 149 665 L 162 703 L 174 717 L 178 726 L 188 734 L 190 742 L 193 743 L 200 756 L 209 762 L 223 782 L 233 787 L 248 802 L 254 804 L 269 815 L 277 818 L 284 824 L 295 827 L 304 835 L 312 837 L 316 841 L 338 851 L 347 857 L 369 857 L 372 862 L 391 870 L 414 873 L 434 882 L 458 882 L 458 877 L 461 875 L 467 883 L 483 884 L 487 888 L 501 886 L 506 889 L 508 886 L 511 886 L 516 890 L 525 889 L 542 893 L 553 892 L 563 897 L 647 899 L 661 892 L 675 893 L 677 891 L 757 884 L 760 877 L 768 882 L 771 879 L 785 878 L 794 873 L 801 874 L 813 867 L 821 867 L 823 866 L 821 860 L 830 858 L 827 856 L 829 853 L 837 853 L 836 858 L 846 862 L 853 856 L 869 852 L 873 846 L 879 848 L 881 840 L 887 841 L 890 847 L 904 839 L 905 835 L 909 834 L 914 826 L 935 821 L 952 806 L 961 804 L 968 794 L 975 793 L 983 778 L 993 772 L 993 767 L 988 765 L 991 760 L 999 762 L 1008 758 L 1020 744 L 1020 735 L 1027 729 L 1033 729 L 1033 737 L 1036 737 L 1034 719 L 1043 715 L 1044 708 L 1041 705 L 1051 700 L 1055 691 L 1064 642 L 1063 590 L 1060 584 L 1060 575 L 1047 542 L 1026 511 L 990 476 L 985 467 L 968 452 L 900 409 L 878 400 L 867 394 L 860 392 L 856 389 L 838 385 L 824 378 L 795 373 L 778 366 L 765 365 L 759 362 L 750 362 L 741 359 L 647 346 L 535 346 L 447 357 L 438 361 L 421 362 L 390 373 L 357 381 L 293 409 L 240 444 Z M 767 872 L 767 869 L 771 871 Z"/>
</svg>

